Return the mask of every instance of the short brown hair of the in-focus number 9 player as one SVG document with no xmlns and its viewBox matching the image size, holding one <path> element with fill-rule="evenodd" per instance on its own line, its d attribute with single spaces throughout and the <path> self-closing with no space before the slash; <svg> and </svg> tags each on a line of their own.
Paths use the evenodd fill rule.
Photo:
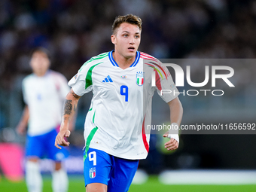
<svg viewBox="0 0 256 192">
<path fill-rule="evenodd" d="M 112 25 L 112 34 L 116 33 L 116 29 L 122 23 L 130 23 L 136 26 L 139 26 L 139 30 L 142 31 L 142 19 L 133 14 L 126 14 L 123 16 L 118 16 L 115 18 L 114 23 Z"/>
</svg>

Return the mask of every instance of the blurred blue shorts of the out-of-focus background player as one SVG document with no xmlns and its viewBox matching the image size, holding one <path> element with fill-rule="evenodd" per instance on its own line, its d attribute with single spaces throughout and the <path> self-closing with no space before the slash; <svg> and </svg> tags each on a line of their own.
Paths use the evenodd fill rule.
<svg viewBox="0 0 256 192">
<path fill-rule="evenodd" d="M 59 150 L 54 146 L 57 132 L 52 130 L 40 136 L 27 136 L 26 157 L 47 158 L 61 161 L 69 156 L 65 148 Z"/>
</svg>

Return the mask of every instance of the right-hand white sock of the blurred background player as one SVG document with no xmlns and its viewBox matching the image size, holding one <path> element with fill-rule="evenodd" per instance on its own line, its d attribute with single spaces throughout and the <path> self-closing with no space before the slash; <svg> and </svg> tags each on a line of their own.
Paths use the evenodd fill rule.
<svg viewBox="0 0 256 192">
<path fill-rule="evenodd" d="M 53 192 L 66 192 L 69 187 L 69 178 L 63 169 L 53 171 Z"/>
</svg>

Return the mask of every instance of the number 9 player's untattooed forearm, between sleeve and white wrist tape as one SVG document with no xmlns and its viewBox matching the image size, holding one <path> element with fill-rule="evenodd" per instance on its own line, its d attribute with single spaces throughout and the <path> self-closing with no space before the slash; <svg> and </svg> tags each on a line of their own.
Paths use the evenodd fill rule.
<svg viewBox="0 0 256 192">
<path fill-rule="evenodd" d="M 168 103 L 170 108 L 171 123 L 177 123 L 178 126 L 181 124 L 183 108 L 178 98 L 173 99 Z"/>
</svg>

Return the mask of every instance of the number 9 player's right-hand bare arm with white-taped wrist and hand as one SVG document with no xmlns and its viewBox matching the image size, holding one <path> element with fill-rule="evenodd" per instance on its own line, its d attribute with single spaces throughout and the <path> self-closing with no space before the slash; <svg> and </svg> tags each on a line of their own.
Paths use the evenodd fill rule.
<svg viewBox="0 0 256 192">
<path fill-rule="evenodd" d="M 171 124 L 177 123 L 179 127 L 183 114 L 181 102 L 178 97 L 176 97 L 175 99 L 172 99 L 172 101 L 168 102 L 168 105 L 171 116 Z M 169 137 L 169 135 L 169 132 L 167 132 L 163 135 L 163 137 Z M 175 134 L 172 136 L 174 137 L 171 137 L 169 142 L 165 143 L 165 148 L 167 148 L 167 150 L 175 150 L 178 148 L 178 141 L 175 139 Z M 178 134 L 176 136 L 178 137 Z"/>
</svg>

